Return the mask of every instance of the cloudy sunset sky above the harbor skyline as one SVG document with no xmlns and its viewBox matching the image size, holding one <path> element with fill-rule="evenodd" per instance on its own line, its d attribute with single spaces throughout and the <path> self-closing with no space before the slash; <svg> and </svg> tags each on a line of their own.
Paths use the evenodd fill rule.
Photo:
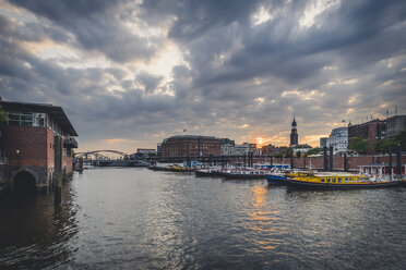
<svg viewBox="0 0 406 270">
<path fill-rule="evenodd" d="M 0 0 L 0 96 L 61 106 L 79 151 L 288 145 L 294 115 L 318 146 L 406 113 L 406 1 Z"/>
</svg>

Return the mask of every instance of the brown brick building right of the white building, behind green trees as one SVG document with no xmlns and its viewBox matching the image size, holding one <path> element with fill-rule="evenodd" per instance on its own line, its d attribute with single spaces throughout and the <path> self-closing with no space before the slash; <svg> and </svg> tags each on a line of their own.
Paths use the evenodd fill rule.
<svg viewBox="0 0 406 270">
<path fill-rule="evenodd" d="M 354 137 L 361 137 L 369 143 L 367 154 L 373 154 L 373 144 L 385 138 L 385 121 L 374 119 L 362 124 L 348 124 L 348 145 Z"/>
</svg>

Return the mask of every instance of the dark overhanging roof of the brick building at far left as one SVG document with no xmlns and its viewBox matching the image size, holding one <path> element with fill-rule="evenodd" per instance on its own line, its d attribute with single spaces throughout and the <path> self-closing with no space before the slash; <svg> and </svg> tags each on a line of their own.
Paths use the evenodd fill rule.
<svg viewBox="0 0 406 270">
<path fill-rule="evenodd" d="M 0 105 L 5 111 L 32 111 L 49 113 L 61 126 L 62 131 L 71 136 L 77 136 L 62 107 L 48 103 L 31 103 L 0 100 Z"/>
</svg>

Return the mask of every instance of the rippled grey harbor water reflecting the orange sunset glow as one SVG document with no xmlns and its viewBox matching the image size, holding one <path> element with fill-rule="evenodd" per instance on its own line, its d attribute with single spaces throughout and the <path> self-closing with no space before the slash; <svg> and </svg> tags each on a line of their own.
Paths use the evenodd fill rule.
<svg viewBox="0 0 406 270">
<path fill-rule="evenodd" d="M 296 191 L 145 168 L 0 197 L 0 269 L 406 269 L 406 188 Z"/>
</svg>

